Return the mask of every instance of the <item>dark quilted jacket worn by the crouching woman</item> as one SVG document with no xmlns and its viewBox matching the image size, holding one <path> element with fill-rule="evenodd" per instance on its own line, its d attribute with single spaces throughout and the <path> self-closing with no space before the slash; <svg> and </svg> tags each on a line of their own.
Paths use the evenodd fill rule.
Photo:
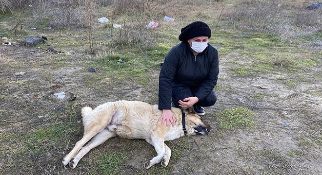
<svg viewBox="0 0 322 175">
<path fill-rule="evenodd" d="M 181 42 L 166 55 L 159 77 L 159 109 L 171 109 L 172 87 L 200 86 L 194 94 L 202 100 L 216 86 L 219 73 L 217 49 L 208 47 L 195 56 L 188 42 Z"/>
</svg>

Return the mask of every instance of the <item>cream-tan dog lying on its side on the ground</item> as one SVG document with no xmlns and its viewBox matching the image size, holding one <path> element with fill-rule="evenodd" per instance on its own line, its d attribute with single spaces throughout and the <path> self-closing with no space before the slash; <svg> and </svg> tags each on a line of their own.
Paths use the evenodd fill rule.
<svg viewBox="0 0 322 175">
<path fill-rule="evenodd" d="M 127 139 L 144 139 L 154 146 L 158 155 L 146 161 L 144 168 L 148 169 L 160 162 L 165 167 L 169 163 L 171 150 L 164 141 L 184 136 L 181 109 L 172 108 L 172 113 L 175 124 L 166 127 L 165 124 L 158 123 L 161 116 L 158 105 L 138 101 L 118 101 L 99 105 L 94 110 L 87 106 L 83 107 L 81 115 L 84 135 L 73 150 L 63 158 L 62 164 L 64 166 L 69 164 L 74 169 L 91 149 L 112 137 L 120 136 Z M 201 117 L 197 114 L 185 111 L 185 115 L 188 136 L 196 133 L 205 135 L 211 130 L 209 125 L 202 123 Z"/>
</svg>

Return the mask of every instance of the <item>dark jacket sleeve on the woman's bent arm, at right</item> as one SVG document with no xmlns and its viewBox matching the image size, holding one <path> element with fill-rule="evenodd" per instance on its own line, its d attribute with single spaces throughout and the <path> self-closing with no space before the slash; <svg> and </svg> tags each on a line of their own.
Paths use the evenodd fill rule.
<svg viewBox="0 0 322 175">
<path fill-rule="evenodd" d="M 195 93 L 195 96 L 198 97 L 200 101 L 202 101 L 217 85 L 219 73 L 219 59 L 218 59 L 218 51 L 213 54 L 212 62 L 210 64 L 210 70 L 206 77 L 206 79 L 201 84 L 198 91 Z"/>
</svg>

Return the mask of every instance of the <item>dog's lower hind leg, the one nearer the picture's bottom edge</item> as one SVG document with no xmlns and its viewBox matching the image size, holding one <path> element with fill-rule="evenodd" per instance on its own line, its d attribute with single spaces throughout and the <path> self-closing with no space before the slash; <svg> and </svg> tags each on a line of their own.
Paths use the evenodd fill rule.
<svg viewBox="0 0 322 175">
<path fill-rule="evenodd" d="M 86 146 L 84 146 L 80 149 L 80 151 L 76 154 L 76 156 L 70 160 L 69 166 L 72 169 L 74 169 L 77 166 L 80 159 L 82 157 L 84 157 L 91 149 L 99 146 L 100 144 L 102 144 L 106 140 L 113 138 L 115 136 L 116 136 L 116 133 L 111 132 L 108 129 L 102 130 L 100 133 L 98 133 L 96 136 L 94 136 L 93 139 L 89 143 L 87 143 Z"/>
</svg>

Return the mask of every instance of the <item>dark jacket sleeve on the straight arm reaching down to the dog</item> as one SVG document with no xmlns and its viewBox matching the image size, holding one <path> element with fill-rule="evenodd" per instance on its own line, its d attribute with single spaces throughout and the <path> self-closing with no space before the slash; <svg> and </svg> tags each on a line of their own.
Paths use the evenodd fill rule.
<svg viewBox="0 0 322 175">
<path fill-rule="evenodd" d="M 172 82 L 174 80 L 179 56 L 176 49 L 165 56 L 159 76 L 159 109 L 171 109 Z"/>
</svg>

